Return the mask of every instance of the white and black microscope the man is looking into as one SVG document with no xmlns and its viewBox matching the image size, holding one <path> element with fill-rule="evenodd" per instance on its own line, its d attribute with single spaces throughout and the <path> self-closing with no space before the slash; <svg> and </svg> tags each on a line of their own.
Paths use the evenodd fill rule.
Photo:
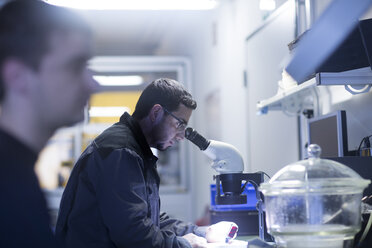
<svg viewBox="0 0 372 248">
<path fill-rule="evenodd" d="M 185 138 L 199 147 L 212 160 L 212 168 L 219 173 L 213 177 L 216 180 L 216 204 L 247 203 L 247 195 L 243 194 L 243 191 L 248 183 L 253 185 L 257 198 L 259 236 L 262 240 L 270 241 L 271 236 L 265 230 L 263 197 L 258 190 L 260 184 L 264 182 L 264 173 L 243 173 L 243 158 L 239 151 L 230 144 L 207 140 L 191 127 L 185 130 Z M 243 186 L 242 182 L 244 182 Z M 221 194 L 220 185 L 223 194 Z"/>
</svg>

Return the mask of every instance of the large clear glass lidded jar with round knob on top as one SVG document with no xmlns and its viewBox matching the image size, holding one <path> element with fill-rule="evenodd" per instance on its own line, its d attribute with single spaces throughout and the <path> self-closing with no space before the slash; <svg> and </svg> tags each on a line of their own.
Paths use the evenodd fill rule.
<svg viewBox="0 0 372 248">
<path fill-rule="evenodd" d="M 362 192 L 370 180 L 320 159 L 318 145 L 308 152 L 308 160 L 285 166 L 261 184 L 268 231 L 279 247 L 342 248 L 360 230 Z"/>
</svg>

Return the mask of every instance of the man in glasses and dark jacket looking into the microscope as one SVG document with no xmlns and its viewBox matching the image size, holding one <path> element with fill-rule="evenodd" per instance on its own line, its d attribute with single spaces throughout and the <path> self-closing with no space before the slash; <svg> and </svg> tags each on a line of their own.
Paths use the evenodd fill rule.
<svg viewBox="0 0 372 248">
<path fill-rule="evenodd" d="M 157 158 L 150 149 L 182 140 L 195 108 L 175 80 L 147 86 L 133 115 L 124 113 L 76 163 L 60 205 L 57 239 L 80 248 L 204 247 L 199 236 L 205 231 L 160 214 Z M 213 237 L 213 228 L 207 232 Z"/>
</svg>

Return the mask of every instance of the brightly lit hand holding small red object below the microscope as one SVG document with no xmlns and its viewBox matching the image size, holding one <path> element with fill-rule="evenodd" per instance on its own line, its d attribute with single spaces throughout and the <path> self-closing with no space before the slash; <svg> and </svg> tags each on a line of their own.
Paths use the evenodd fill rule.
<svg viewBox="0 0 372 248">
<path fill-rule="evenodd" d="M 236 227 L 236 232 L 237 232 L 238 226 L 234 222 L 220 221 L 207 228 L 205 238 L 210 243 L 216 243 L 216 242 L 223 242 L 223 243 L 229 242 L 230 243 L 236 237 L 236 232 L 231 233 L 232 237 L 229 237 L 230 231 L 232 230 L 233 227 Z"/>
</svg>

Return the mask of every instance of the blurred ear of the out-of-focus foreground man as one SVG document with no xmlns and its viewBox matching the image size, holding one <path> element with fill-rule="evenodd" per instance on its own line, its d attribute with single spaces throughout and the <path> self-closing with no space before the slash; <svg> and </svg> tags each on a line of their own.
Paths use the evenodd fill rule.
<svg viewBox="0 0 372 248">
<path fill-rule="evenodd" d="M 4 61 L 1 68 L 4 84 L 7 90 L 23 94 L 28 90 L 30 68 L 15 58 Z"/>
</svg>

